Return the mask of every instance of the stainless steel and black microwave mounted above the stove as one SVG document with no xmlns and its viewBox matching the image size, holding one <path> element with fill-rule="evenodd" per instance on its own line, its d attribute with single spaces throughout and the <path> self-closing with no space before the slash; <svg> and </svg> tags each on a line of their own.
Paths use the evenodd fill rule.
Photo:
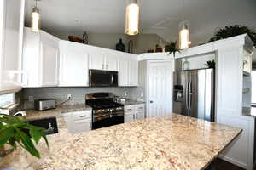
<svg viewBox="0 0 256 170">
<path fill-rule="evenodd" d="M 117 87 L 118 78 L 117 71 L 89 70 L 90 87 Z"/>
</svg>

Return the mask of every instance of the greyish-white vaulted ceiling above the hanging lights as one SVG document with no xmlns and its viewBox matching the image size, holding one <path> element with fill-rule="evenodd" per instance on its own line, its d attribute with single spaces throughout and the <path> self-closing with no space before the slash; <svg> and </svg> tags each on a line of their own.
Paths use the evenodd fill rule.
<svg viewBox="0 0 256 170">
<path fill-rule="evenodd" d="M 26 0 L 26 25 L 34 0 Z M 125 32 L 127 0 L 41 0 L 42 28 L 49 32 Z M 255 0 L 140 0 L 140 32 L 176 40 L 178 22 L 189 20 L 191 41 L 207 42 L 217 27 L 256 28 Z M 76 21 L 80 20 L 80 22 Z"/>
</svg>

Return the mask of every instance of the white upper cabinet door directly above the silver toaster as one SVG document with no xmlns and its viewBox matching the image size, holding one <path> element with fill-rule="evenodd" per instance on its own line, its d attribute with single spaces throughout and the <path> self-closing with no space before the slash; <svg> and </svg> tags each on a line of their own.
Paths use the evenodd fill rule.
<svg viewBox="0 0 256 170">
<path fill-rule="evenodd" d="M 57 86 L 59 76 L 59 48 L 49 43 L 41 42 L 40 49 L 42 61 L 41 86 Z"/>
</svg>

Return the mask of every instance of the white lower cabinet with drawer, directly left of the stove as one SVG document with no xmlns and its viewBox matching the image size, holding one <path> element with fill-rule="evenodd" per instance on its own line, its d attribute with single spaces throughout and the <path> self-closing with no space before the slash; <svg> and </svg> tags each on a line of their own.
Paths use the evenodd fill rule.
<svg viewBox="0 0 256 170">
<path fill-rule="evenodd" d="M 91 110 L 63 113 L 70 133 L 82 133 L 91 130 Z"/>
</svg>

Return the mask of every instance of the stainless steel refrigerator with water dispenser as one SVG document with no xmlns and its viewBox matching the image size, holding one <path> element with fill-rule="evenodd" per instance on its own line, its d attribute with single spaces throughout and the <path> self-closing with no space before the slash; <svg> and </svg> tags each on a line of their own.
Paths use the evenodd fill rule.
<svg viewBox="0 0 256 170">
<path fill-rule="evenodd" d="M 214 69 L 176 71 L 173 85 L 174 113 L 214 122 Z"/>
</svg>

